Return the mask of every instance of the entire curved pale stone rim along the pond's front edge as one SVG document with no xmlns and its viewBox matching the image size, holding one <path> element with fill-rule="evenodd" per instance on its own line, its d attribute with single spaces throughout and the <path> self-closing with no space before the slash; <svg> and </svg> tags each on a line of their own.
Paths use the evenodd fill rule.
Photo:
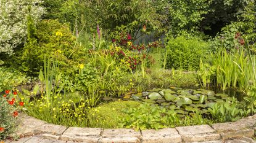
<svg viewBox="0 0 256 143">
<path fill-rule="evenodd" d="M 230 138 L 253 137 L 256 131 L 256 114 L 236 122 L 142 131 L 66 127 L 46 123 L 24 114 L 20 121 L 17 133 L 20 137 L 40 136 L 56 141 L 89 143 L 222 142 Z"/>
</svg>

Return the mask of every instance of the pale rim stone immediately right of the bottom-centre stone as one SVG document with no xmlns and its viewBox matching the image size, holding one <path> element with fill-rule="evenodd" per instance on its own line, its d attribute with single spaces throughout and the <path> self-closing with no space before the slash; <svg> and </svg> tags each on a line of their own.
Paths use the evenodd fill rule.
<svg viewBox="0 0 256 143">
<path fill-rule="evenodd" d="M 142 143 L 168 143 L 181 142 L 181 136 L 175 128 L 147 129 L 141 131 Z"/>
</svg>

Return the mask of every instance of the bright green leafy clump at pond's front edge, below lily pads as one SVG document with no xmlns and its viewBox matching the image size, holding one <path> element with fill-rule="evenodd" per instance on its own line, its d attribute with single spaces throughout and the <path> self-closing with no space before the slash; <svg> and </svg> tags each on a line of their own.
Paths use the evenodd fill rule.
<svg viewBox="0 0 256 143">
<path fill-rule="evenodd" d="M 123 110 L 120 127 L 139 129 L 160 129 L 167 125 L 175 126 L 178 117 L 174 110 L 166 110 L 158 106 L 144 103 L 137 108 Z"/>
</svg>

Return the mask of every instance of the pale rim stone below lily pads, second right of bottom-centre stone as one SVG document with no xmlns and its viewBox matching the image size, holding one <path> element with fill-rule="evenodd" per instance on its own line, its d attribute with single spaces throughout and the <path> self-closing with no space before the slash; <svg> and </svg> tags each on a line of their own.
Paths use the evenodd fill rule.
<svg viewBox="0 0 256 143">
<path fill-rule="evenodd" d="M 220 134 L 215 133 L 209 125 L 176 127 L 183 142 L 217 141 Z"/>
</svg>

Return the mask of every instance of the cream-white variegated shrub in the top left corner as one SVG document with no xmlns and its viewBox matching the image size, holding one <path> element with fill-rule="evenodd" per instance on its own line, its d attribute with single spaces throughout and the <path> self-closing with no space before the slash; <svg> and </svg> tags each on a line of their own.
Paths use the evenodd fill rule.
<svg viewBox="0 0 256 143">
<path fill-rule="evenodd" d="M 39 0 L 3 0 L 0 2 L 0 54 L 12 54 L 14 48 L 25 42 L 27 35 L 28 7 L 33 20 L 38 21 L 44 13 Z"/>
</svg>

